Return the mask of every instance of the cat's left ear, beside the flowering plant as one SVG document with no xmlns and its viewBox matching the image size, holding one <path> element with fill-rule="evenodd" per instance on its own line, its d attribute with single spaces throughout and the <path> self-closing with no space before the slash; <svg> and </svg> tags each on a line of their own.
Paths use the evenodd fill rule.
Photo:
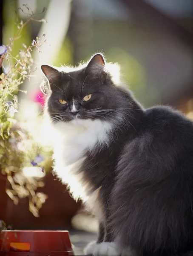
<svg viewBox="0 0 193 256">
<path fill-rule="evenodd" d="M 41 70 L 49 81 L 51 90 L 54 89 L 55 84 L 60 79 L 60 72 L 54 67 L 48 65 L 42 65 Z"/>
</svg>

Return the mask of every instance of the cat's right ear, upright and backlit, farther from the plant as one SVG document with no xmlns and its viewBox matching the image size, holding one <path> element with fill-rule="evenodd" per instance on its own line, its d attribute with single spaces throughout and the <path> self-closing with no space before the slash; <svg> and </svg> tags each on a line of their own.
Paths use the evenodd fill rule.
<svg viewBox="0 0 193 256">
<path fill-rule="evenodd" d="M 102 54 L 97 53 L 89 61 L 85 69 L 85 74 L 97 77 L 100 75 L 104 75 L 105 73 L 105 60 Z"/>
</svg>

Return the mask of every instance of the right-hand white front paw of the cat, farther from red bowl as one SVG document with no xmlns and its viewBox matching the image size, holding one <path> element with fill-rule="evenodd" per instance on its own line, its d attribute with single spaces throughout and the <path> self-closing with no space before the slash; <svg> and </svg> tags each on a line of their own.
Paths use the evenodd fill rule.
<svg viewBox="0 0 193 256">
<path fill-rule="evenodd" d="M 93 253 L 94 256 L 121 256 L 121 251 L 114 242 L 97 244 Z"/>
</svg>

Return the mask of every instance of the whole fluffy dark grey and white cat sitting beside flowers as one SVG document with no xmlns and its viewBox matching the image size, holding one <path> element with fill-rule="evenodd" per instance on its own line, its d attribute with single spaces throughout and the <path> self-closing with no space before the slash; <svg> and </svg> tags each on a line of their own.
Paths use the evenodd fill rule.
<svg viewBox="0 0 193 256">
<path fill-rule="evenodd" d="M 54 171 L 99 219 L 85 253 L 192 250 L 193 123 L 170 107 L 143 108 L 100 53 L 77 68 L 41 69 Z"/>
</svg>

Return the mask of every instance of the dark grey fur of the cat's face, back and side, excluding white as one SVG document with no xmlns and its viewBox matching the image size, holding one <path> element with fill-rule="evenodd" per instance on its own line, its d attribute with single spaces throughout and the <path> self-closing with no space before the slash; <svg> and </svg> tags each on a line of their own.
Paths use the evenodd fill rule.
<svg viewBox="0 0 193 256">
<path fill-rule="evenodd" d="M 84 174 L 82 183 L 89 181 L 93 190 L 101 187 L 99 200 L 105 220 L 99 220 L 98 242 L 116 241 L 144 256 L 193 250 L 193 123 L 168 107 L 144 110 L 128 90 L 116 87 L 111 74 L 96 62 L 92 59 L 88 68 L 69 73 L 42 69 L 47 77 L 56 72 L 49 79 L 48 112 L 63 112 L 64 122 L 73 118 L 72 96 L 82 119 L 116 122 L 117 114 L 124 116 L 110 145 L 85 152 L 87 160 L 79 170 Z M 82 102 L 88 93 L 92 99 Z M 57 102 L 63 97 L 68 106 Z M 88 110 L 94 108 L 115 111 L 91 116 Z"/>
</svg>

